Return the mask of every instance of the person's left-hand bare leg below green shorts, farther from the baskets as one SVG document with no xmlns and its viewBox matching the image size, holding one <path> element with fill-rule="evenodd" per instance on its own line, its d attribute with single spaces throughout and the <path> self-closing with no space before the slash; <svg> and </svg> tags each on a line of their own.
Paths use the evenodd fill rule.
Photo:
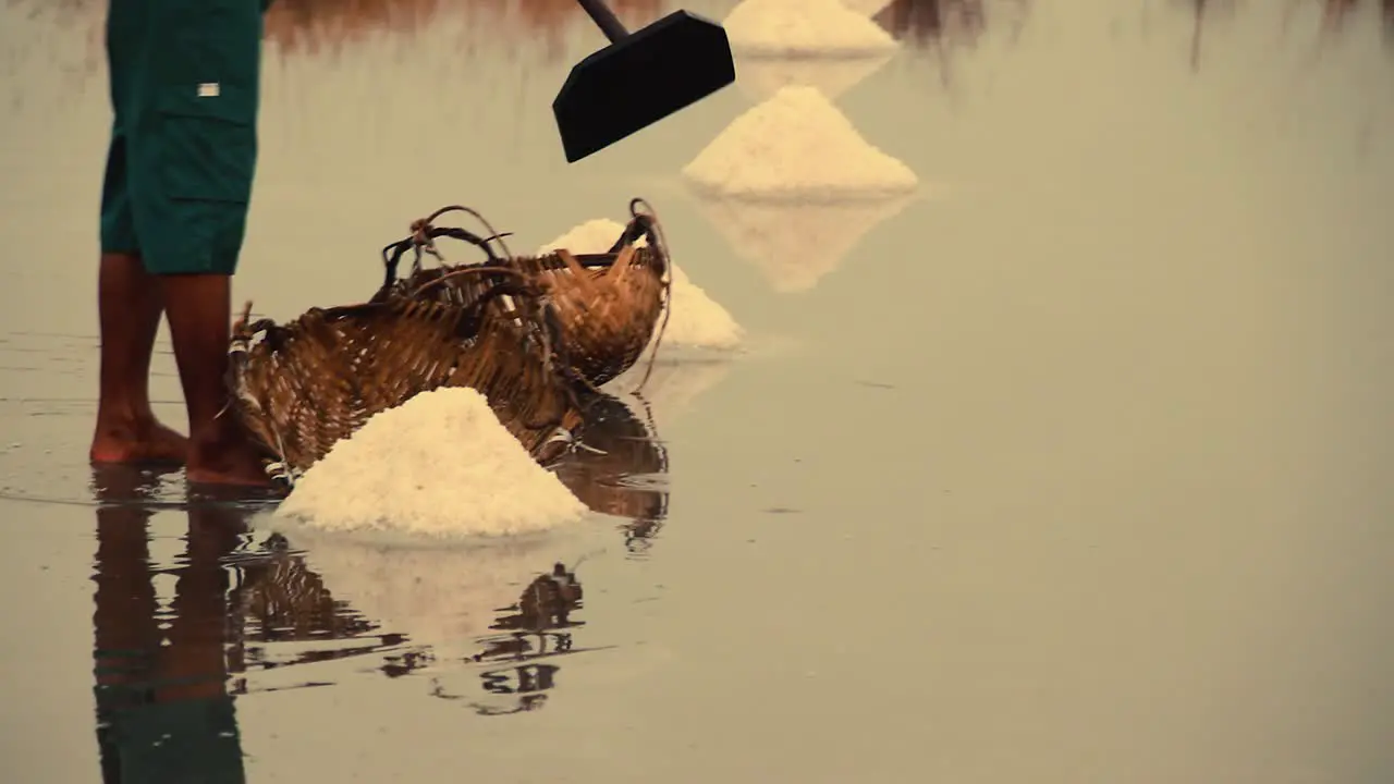
<svg viewBox="0 0 1394 784">
<path fill-rule="evenodd" d="M 188 453 L 188 439 L 160 424 L 151 410 L 151 353 L 163 310 L 159 283 L 139 257 L 102 254 L 100 400 L 88 453 L 95 463 L 183 463 Z"/>
</svg>

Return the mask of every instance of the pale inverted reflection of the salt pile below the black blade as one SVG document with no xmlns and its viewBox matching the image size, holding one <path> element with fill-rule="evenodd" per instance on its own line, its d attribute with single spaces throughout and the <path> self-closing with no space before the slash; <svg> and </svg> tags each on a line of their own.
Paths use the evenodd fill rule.
<svg viewBox="0 0 1394 784">
<path fill-rule="evenodd" d="M 853 246 L 895 216 L 909 197 L 789 204 L 698 198 L 698 209 L 736 252 L 781 293 L 806 292 L 842 264 Z"/>
</svg>

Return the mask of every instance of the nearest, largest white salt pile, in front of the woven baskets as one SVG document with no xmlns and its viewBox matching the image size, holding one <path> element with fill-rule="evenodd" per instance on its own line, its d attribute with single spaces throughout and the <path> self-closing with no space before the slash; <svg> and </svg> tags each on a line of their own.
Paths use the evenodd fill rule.
<svg viewBox="0 0 1394 784">
<path fill-rule="evenodd" d="M 422 392 L 374 416 L 277 509 L 325 530 L 435 537 L 535 532 L 584 513 L 468 388 Z"/>
</svg>

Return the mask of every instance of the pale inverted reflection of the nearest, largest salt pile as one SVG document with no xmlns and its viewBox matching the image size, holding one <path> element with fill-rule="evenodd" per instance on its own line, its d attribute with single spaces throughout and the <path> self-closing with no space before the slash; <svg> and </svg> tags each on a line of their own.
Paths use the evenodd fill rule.
<svg viewBox="0 0 1394 784">
<path fill-rule="evenodd" d="M 404 547 L 371 534 L 287 530 L 308 551 L 308 565 L 336 600 L 382 632 L 429 646 L 438 658 L 477 653 L 499 610 L 517 604 L 534 578 L 552 564 L 574 564 L 577 537 L 535 534 L 463 547 Z"/>
</svg>

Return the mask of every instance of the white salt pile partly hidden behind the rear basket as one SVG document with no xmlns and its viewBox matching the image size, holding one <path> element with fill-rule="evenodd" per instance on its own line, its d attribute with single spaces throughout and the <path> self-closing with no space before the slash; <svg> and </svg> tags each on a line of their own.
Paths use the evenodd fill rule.
<svg viewBox="0 0 1394 784">
<path fill-rule="evenodd" d="M 546 243 L 538 252 L 559 247 L 581 254 L 605 252 L 622 233 L 625 233 L 623 225 L 598 218 Z M 740 343 L 742 329 L 736 319 L 708 297 L 707 292 L 697 287 L 677 265 L 673 265 L 672 306 L 672 315 L 668 317 L 668 326 L 664 329 L 664 345 L 732 349 Z M 658 319 L 662 325 L 664 315 L 659 314 Z M 657 326 L 654 332 L 657 336 Z"/>
</svg>

